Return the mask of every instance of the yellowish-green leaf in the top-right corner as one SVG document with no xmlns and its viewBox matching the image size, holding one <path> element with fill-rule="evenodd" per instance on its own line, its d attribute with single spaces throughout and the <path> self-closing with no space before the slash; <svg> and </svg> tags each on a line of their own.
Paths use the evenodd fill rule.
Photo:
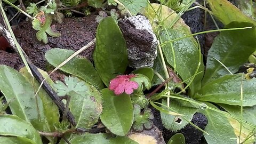
<svg viewBox="0 0 256 144">
<path fill-rule="evenodd" d="M 244 15 L 236 6 L 228 2 L 227 0 L 207 0 L 213 12 L 213 15 L 217 17 L 224 25 L 233 21 L 251 22 L 256 25 L 256 21 Z M 242 37 L 243 36 L 240 36 Z"/>
</svg>

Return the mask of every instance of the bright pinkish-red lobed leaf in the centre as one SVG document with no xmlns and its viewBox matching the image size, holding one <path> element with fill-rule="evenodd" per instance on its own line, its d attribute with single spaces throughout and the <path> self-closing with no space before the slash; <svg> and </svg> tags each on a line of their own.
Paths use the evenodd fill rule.
<svg viewBox="0 0 256 144">
<path fill-rule="evenodd" d="M 139 84 L 137 82 L 131 81 L 131 78 L 135 77 L 134 74 L 131 75 L 119 75 L 110 81 L 109 89 L 114 91 L 116 95 L 126 93 L 131 94 L 133 90 L 138 89 Z"/>
</svg>

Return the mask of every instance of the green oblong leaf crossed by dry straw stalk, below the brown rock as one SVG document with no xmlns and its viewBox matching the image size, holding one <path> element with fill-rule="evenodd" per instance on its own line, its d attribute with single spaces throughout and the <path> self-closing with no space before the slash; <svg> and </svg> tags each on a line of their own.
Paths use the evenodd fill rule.
<svg viewBox="0 0 256 144">
<path fill-rule="evenodd" d="M 52 49 L 45 53 L 45 58 L 51 65 L 57 67 L 73 53 L 74 51 L 71 50 Z M 62 66 L 60 70 L 83 79 L 85 82 L 94 85 L 99 90 L 104 87 L 97 71 L 94 69 L 92 63 L 86 58 L 75 57 Z"/>
</svg>

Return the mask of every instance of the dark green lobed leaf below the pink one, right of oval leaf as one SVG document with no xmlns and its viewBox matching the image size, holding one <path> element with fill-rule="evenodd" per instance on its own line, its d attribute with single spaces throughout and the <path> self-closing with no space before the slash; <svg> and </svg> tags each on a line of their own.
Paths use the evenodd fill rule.
<svg viewBox="0 0 256 144">
<path fill-rule="evenodd" d="M 136 131 L 142 131 L 144 127 L 146 129 L 151 129 L 154 125 L 153 119 L 154 115 L 151 112 L 150 108 L 146 108 L 144 113 L 141 114 L 140 106 L 134 105 L 134 120 L 133 120 L 133 129 Z"/>
</svg>

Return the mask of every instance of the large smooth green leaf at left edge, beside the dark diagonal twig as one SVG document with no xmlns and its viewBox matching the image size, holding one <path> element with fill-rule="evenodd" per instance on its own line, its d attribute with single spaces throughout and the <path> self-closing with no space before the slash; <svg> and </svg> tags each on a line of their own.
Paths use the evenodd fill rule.
<svg viewBox="0 0 256 144">
<path fill-rule="evenodd" d="M 30 122 L 37 130 L 44 130 L 43 102 L 34 96 L 33 86 L 18 71 L 4 65 L 0 66 L 0 79 L 0 90 L 10 103 L 12 114 Z"/>
</svg>

